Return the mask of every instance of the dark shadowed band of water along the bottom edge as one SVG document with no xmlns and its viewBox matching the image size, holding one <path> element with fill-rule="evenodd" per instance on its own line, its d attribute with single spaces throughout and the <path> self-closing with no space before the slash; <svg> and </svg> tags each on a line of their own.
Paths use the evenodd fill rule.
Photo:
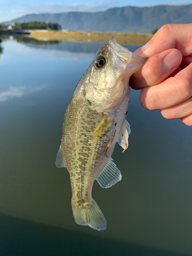
<svg viewBox="0 0 192 256">
<path fill-rule="evenodd" d="M 13 228 L 14 227 L 14 228 Z M 189 256 L 0 215 L 1 255 Z M 10 232 L 11 230 L 11 232 Z"/>
</svg>

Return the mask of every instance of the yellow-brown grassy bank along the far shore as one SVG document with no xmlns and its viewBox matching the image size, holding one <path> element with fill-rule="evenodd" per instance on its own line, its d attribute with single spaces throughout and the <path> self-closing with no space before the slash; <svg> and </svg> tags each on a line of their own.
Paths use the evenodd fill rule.
<svg viewBox="0 0 192 256">
<path fill-rule="evenodd" d="M 120 43 L 146 44 L 152 38 L 151 34 L 125 34 L 125 33 L 83 33 L 78 31 L 33 31 L 31 37 L 38 40 L 71 40 L 71 41 L 103 41 L 108 42 L 112 36 Z"/>
</svg>

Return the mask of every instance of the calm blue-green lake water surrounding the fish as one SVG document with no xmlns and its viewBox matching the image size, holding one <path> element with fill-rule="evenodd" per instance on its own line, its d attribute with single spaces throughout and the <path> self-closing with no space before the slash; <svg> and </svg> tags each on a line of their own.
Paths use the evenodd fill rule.
<svg viewBox="0 0 192 256">
<path fill-rule="evenodd" d="M 1 45 L 0 255 L 192 255 L 191 127 L 143 109 L 132 90 L 129 148 L 113 153 L 122 181 L 93 186 L 108 227 L 79 226 L 55 157 L 73 90 L 104 43 Z"/>
</svg>

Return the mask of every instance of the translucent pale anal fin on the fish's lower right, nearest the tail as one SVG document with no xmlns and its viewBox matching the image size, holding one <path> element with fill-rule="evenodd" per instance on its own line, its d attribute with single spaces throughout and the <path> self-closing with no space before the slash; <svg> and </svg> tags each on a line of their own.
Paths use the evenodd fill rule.
<svg viewBox="0 0 192 256">
<path fill-rule="evenodd" d="M 120 170 L 116 167 L 116 164 L 111 158 L 97 178 L 97 182 L 102 188 L 108 188 L 120 181 L 121 177 Z"/>
</svg>

